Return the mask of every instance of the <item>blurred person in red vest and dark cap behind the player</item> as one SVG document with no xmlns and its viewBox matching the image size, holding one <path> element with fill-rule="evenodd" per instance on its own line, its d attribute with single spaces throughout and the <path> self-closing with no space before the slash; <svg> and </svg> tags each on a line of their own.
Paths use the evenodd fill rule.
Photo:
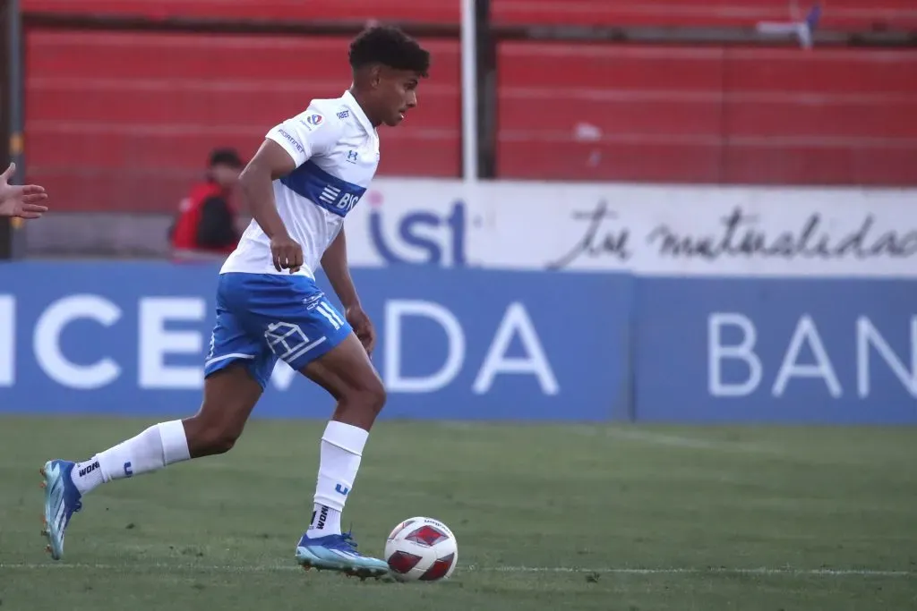
<svg viewBox="0 0 917 611">
<path fill-rule="evenodd" d="M 169 229 L 173 258 L 222 260 L 236 249 L 238 213 L 232 196 L 244 166 L 233 148 L 211 151 L 204 181 L 182 200 Z"/>
</svg>

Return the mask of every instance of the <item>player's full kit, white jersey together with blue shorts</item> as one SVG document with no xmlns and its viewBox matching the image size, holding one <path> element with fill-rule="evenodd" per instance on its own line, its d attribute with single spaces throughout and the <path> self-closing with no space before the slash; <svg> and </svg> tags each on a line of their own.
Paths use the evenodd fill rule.
<svg viewBox="0 0 917 611">
<path fill-rule="evenodd" d="M 344 218 L 357 205 L 379 165 L 379 134 L 349 93 L 313 100 L 267 137 L 296 169 L 274 180 L 277 210 L 303 247 L 304 265 L 278 272 L 271 240 L 254 220 L 224 263 L 216 294 L 216 324 L 204 376 L 244 361 L 265 387 L 280 358 L 300 370 L 344 341 L 344 316 L 315 284 L 315 270 Z"/>
</svg>

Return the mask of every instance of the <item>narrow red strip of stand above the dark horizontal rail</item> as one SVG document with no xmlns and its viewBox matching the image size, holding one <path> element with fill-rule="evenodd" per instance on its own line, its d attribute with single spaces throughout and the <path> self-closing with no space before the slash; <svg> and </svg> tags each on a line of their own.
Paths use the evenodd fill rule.
<svg viewBox="0 0 917 611">
<path fill-rule="evenodd" d="M 752 26 L 760 20 L 792 16 L 790 0 L 492 0 L 498 24 L 577 24 L 593 26 Z M 815 0 L 801 0 L 808 10 Z M 917 28 L 912 0 L 830 0 L 825 27 Z M 258 19 L 393 19 L 430 23 L 459 20 L 458 0 L 23 0 L 23 9 L 43 13 L 120 14 L 153 17 Z"/>
</svg>

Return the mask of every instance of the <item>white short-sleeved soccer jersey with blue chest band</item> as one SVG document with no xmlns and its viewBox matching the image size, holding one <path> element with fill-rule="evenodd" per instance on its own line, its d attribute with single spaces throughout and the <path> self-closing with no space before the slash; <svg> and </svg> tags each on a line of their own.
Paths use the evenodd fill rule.
<svg viewBox="0 0 917 611">
<path fill-rule="evenodd" d="M 298 273 L 315 278 L 344 217 L 376 173 L 379 133 L 353 95 L 345 92 L 337 99 L 313 100 L 304 113 L 276 125 L 267 137 L 296 162 L 293 172 L 274 180 L 274 199 L 290 237 L 303 246 L 304 266 Z M 279 273 L 271 240 L 254 220 L 220 270 L 226 272 Z"/>
</svg>

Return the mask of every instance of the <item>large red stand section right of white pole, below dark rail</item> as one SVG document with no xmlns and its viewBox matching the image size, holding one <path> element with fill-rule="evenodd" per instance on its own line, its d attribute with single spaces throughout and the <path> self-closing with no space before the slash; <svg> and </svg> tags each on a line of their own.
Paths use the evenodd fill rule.
<svg viewBox="0 0 917 611">
<path fill-rule="evenodd" d="M 917 51 L 504 43 L 498 174 L 917 184 Z"/>
</svg>

